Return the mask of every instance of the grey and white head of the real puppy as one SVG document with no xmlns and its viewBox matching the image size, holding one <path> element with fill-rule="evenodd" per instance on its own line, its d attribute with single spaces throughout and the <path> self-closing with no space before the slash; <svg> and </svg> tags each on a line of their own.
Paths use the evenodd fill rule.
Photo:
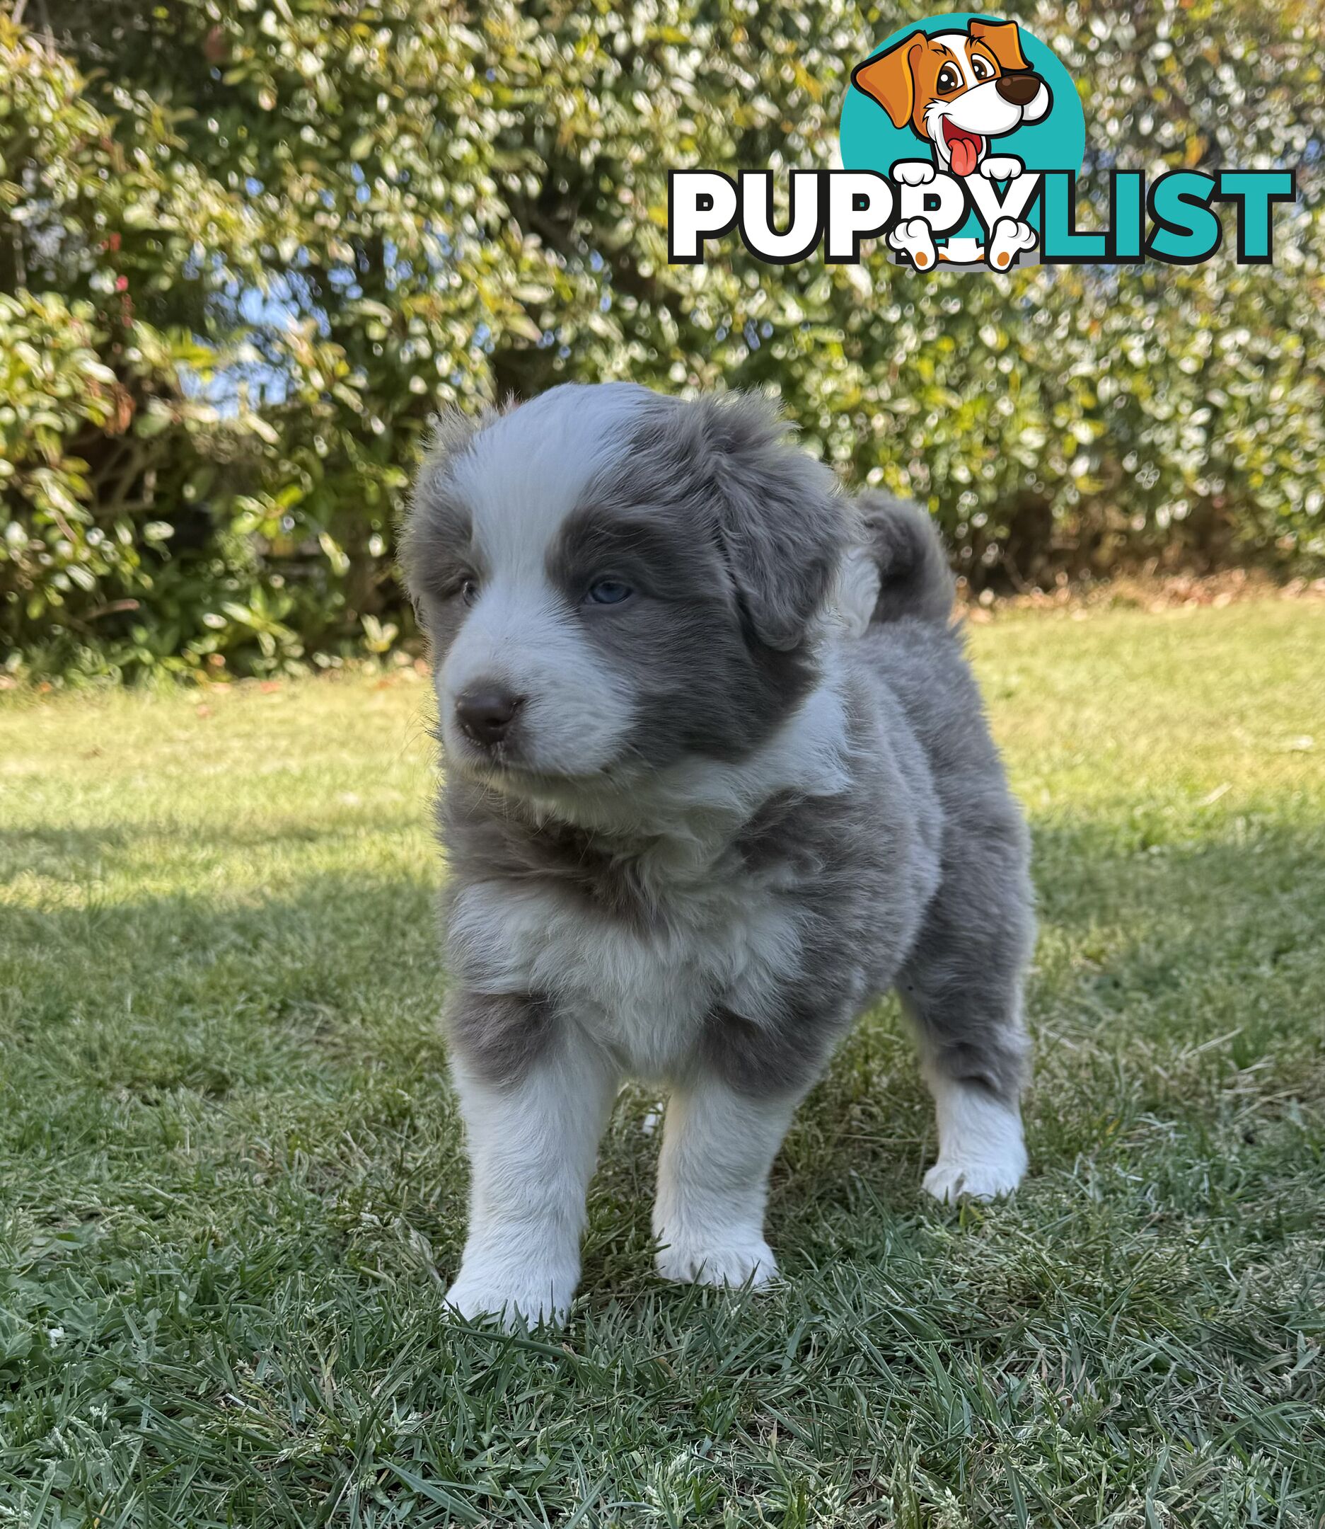
<svg viewBox="0 0 1325 1529">
<path fill-rule="evenodd" d="M 449 766 L 539 794 L 741 758 L 813 682 L 844 540 L 761 398 L 569 385 L 443 420 L 402 566 Z"/>
</svg>

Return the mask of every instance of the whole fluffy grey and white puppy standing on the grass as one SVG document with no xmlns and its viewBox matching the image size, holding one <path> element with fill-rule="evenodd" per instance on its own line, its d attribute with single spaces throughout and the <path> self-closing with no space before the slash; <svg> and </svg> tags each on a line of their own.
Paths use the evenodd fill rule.
<svg viewBox="0 0 1325 1529">
<path fill-rule="evenodd" d="M 449 1301 L 564 1315 L 625 1075 L 669 1090 L 657 1266 L 763 1284 L 792 1113 L 889 988 L 938 1199 L 1025 1170 L 1027 833 L 926 515 L 851 503 L 761 398 L 559 387 L 439 428 L 402 563 L 432 645 Z"/>
</svg>

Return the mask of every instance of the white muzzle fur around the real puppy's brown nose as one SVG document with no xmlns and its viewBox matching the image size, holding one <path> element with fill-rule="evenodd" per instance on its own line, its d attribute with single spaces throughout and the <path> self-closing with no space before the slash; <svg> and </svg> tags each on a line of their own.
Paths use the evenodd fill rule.
<svg viewBox="0 0 1325 1529">
<path fill-rule="evenodd" d="M 518 763 L 549 774 L 591 775 L 610 764 L 634 714 L 620 676 L 541 573 L 498 573 L 446 654 L 437 705 L 452 757 L 465 757 L 455 700 L 488 685 L 524 697 Z"/>
</svg>

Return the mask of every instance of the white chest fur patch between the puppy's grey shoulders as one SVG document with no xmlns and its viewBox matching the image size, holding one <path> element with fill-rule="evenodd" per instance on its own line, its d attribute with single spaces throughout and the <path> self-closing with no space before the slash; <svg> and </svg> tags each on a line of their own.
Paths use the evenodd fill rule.
<svg viewBox="0 0 1325 1529">
<path fill-rule="evenodd" d="M 559 888 L 478 884 L 455 899 L 449 937 L 472 986 L 555 998 L 645 1078 L 685 1066 L 714 1003 L 773 1012 L 801 956 L 795 905 L 738 870 L 663 888 L 648 920 Z"/>
</svg>

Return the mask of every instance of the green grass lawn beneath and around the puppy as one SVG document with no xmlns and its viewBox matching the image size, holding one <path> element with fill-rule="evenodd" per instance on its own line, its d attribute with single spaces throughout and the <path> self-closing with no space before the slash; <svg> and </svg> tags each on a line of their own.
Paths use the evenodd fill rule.
<svg viewBox="0 0 1325 1529">
<path fill-rule="evenodd" d="M 426 687 L 11 696 L 0 1524 L 1319 1523 L 1325 610 L 972 641 L 1036 832 L 1032 1179 L 922 1200 L 889 1003 L 779 1159 L 776 1294 L 654 1280 L 634 1090 L 532 1338 L 442 1304 Z"/>
</svg>

